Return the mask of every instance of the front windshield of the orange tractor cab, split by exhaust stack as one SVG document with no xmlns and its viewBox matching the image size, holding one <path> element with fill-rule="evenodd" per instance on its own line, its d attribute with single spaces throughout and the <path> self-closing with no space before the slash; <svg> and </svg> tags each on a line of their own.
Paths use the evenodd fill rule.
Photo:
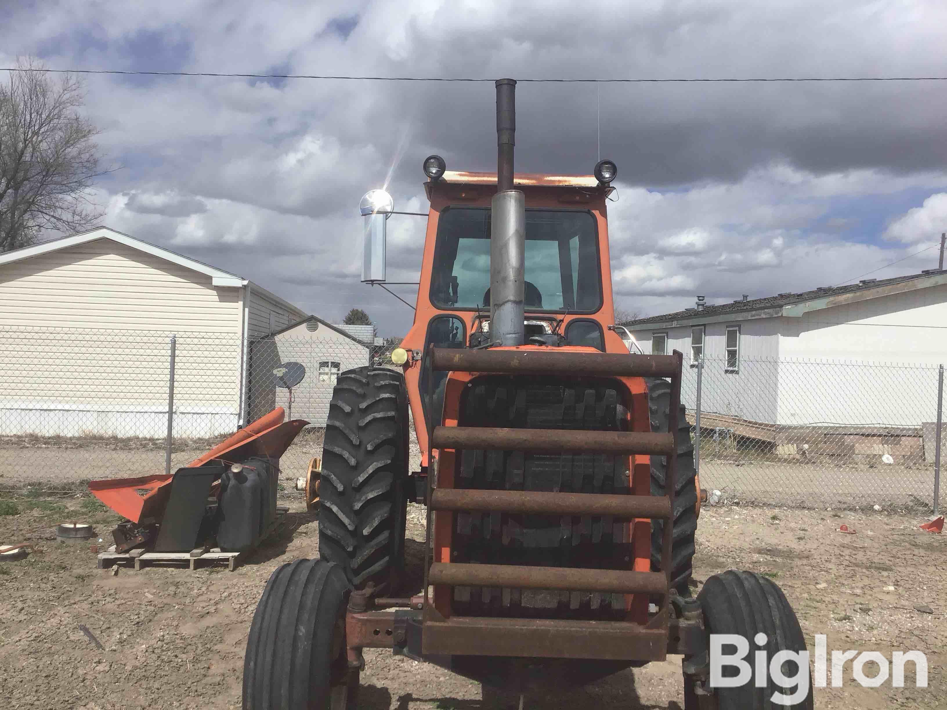
<svg viewBox="0 0 947 710">
<path fill-rule="evenodd" d="M 490 307 L 490 209 L 448 207 L 438 220 L 431 302 Z M 527 209 L 526 310 L 591 313 L 601 307 L 599 248 L 591 212 Z"/>
</svg>

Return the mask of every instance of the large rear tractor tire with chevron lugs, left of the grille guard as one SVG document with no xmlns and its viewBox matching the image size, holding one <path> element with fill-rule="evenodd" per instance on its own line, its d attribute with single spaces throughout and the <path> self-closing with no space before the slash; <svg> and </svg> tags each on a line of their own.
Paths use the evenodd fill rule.
<svg viewBox="0 0 947 710">
<path fill-rule="evenodd" d="M 319 480 L 319 556 L 356 589 L 394 591 L 404 564 L 407 390 L 400 372 L 357 367 L 338 377 Z"/>
</svg>

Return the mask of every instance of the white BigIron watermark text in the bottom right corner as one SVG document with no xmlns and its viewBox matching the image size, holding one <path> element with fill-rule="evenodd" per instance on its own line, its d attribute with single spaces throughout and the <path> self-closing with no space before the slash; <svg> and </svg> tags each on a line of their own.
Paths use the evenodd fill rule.
<svg viewBox="0 0 947 710">
<path fill-rule="evenodd" d="M 780 650 L 767 659 L 765 647 L 768 640 L 765 633 L 754 636 L 753 641 L 759 648 L 751 653 L 750 642 L 743 636 L 711 633 L 710 687 L 732 688 L 753 683 L 755 687 L 764 688 L 772 682 L 782 689 L 773 693 L 773 702 L 792 705 L 804 700 L 810 689 L 810 652 Z M 927 687 L 927 656 L 919 650 L 893 651 L 890 659 L 884 653 L 872 650 L 833 650 L 830 654 L 825 634 L 816 634 L 812 660 L 812 683 L 817 688 L 827 687 L 830 683 L 831 687 L 842 687 L 842 674 L 849 661 L 851 677 L 863 687 L 876 688 L 888 682 L 892 687 L 904 687 L 904 666 L 907 664 L 914 666 L 915 685 Z M 874 664 L 877 668 L 866 668 L 867 664 Z"/>
</svg>

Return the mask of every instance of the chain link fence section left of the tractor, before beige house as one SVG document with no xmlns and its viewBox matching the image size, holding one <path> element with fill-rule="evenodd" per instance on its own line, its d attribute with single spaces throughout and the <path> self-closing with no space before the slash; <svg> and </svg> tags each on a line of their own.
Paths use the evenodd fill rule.
<svg viewBox="0 0 947 710">
<path fill-rule="evenodd" d="M 173 471 L 275 407 L 313 424 L 282 459 L 286 477 L 304 475 L 338 375 L 390 365 L 392 347 L 325 327 L 249 341 L 0 328 L 0 484 Z"/>
</svg>

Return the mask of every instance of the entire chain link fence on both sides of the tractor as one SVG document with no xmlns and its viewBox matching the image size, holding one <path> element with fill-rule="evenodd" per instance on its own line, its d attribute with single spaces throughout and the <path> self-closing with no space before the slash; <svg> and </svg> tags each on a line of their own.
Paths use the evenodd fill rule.
<svg viewBox="0 0 947 710">
<path fill-rule="evenodd" d="M 175 470 L 275 407 L 313 424 L 282 461 L 304 475 L 339 374 L 390 366 L 392 347 L 325 326 L 249 341 L 0 328 L 0 484 Z M 941 378 L 937 365 L 686 364 L 701 486 L 744 503 L 929 508 Z"/>
</svg>

